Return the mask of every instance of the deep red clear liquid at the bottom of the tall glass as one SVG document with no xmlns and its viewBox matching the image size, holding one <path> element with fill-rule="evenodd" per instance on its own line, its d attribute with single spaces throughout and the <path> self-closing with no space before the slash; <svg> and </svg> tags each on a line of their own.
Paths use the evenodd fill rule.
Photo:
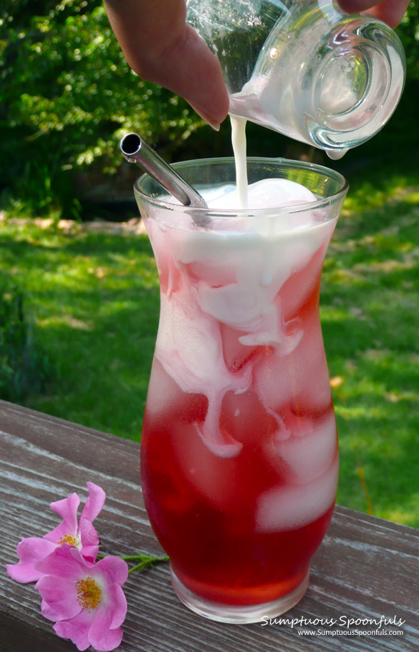
<svg viewBox="0 0 419 652">
<path fill-rule="evenodd" d="M 237 605 L 269 602 L 292 592 L 303 581 L 325 535 L 333 505 L 301 528 L 257 533 L 257 496 L 273 483 L 278 486 L 277 474 L 253 446 L 244 447 L 239 462 L 219 460 L 220 475 L 229 474 L 236 481 L 234 493 L 225 496 L 229 487 L 214 486 L 214 504 L 204 496 L 205 486 L 194 484 L 193 467 L 190 479 L 178 466 L 178 447 L 170 443 L 170 430 L 163 425 L 159 431 L 151 430 L 144 424 L 142 483 L 151 525 L 180 581 L 205 599 Z M 185 439 L 193 436 L 188 430 Z M 180 432 L 175 437 L 181 437 Z"/>
</svg>

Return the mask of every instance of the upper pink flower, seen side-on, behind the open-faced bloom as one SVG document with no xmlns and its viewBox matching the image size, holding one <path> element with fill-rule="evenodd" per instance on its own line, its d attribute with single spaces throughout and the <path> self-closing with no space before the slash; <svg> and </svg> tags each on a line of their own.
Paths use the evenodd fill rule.
<svg viewBox="0 0 419 652">
<path fill-rule="evenodd" d="M 16 582 L 36 582 L 43 573 L 39 570 L 37 562 L 45 559 L 56 548 L 64 543 L 75 546 L 83 557 L 94 562 L 99 551 L 99 538 L 92 523 L 104 506 L 106 494 L 102 487 L 92 482 L 87 482 L 89 497 L 77 523 L 77 508 L 80 498 L 77 493 L 62 501 L 50 504 L 50 508 L 61 516 L 61 523 L 42 538 L 22 538 L 16 548 L 19 561 L 17 564 L 6 566 L 7 572 Z"/>
</svg>

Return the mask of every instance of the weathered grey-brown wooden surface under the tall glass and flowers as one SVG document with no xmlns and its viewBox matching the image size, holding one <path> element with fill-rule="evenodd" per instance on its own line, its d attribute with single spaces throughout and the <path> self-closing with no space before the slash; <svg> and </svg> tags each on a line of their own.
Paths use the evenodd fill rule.
<svg viewBox="0 0 419 652">
<path fill-rule="evenodd" d="M 40 615 L 33 584 L 13 582 L 4 570 L 16 562 L 21 536 L 42 536 L 58 523 L 49 503 L 73 491 L 82 501 L 86 481 L 104 487 L 107 501 L 95 521 L 108 554 L 161 553 L 151 531 L 139 483 L 139 445 L 110 434 L 0 402 L 1 652 L 75 651 Z M 273 652 L 306 650 L 419 650 L 419 531 L 337 507 L 312 562 L 308 592 L 283 617 L 335 619 L 334 626 L 227 625 L 192 614 L 175 597 L 167 564 L 131 574 L 124 585 L 129 611 L 123 652 Z M 402 635 L 331 636 L 347 630 L 342 618 L 406 621 L 382 626 Z M 344 623 L 346 624 L 346 620 Z M 340 626 L 339 626 L 340 625 Z M 329 634 L 303 636 L 302 630 Z M 378 629 L 367 624 L 350 629 Z"/>
</svg>

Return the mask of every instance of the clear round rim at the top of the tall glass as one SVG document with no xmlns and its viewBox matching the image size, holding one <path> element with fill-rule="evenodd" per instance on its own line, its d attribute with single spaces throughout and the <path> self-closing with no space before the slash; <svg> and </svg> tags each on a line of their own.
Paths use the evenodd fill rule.
<svg viewBox="0 0 419 652">
<path fill-rule="evenodd" d="M 332 193 L 330 196 L 322 197 L 320 199 L 317 199 L 316 201 L 307 201 L 298 204 L 293 204 L 290 206 L 278 206 L 278 207 L 270 207 L 270 208 L 194 208 L 192 206 L 185 206 L 180 203 L 165 201 L 159 197 L 153 197 L 143 192 L 141 190 L 141 183 L 145 183 L 149 179 L 154 181 L 153 178 L 148 173 L 145 172 L 141 174 L 141 176 L 136 178 L 136 180 L 134 181 L 134 193 L 138 196 L 141 196 L 142 200 L 150 205 L 154 205 L 159 208 L 165 208 L 167 210 L 176 210 L 178 213 L 184 213 L 185 216 L 202 215 L 203 218 L 205 215 L 209 215 L 210 217 L 217 217 L 217 218 L 226 217 L 229 219 L 234 219 L 234 218 L 243 219 L 243 218 L 253 218 L 253 217 L 256 218 L 261 215 L 263 215 L 264 217 L 270 217 L 271 215 L 272 216 L 290 215 L 292 213 L 303 213 L 306 210 L 324 208 L 325 206 L 328 206 L 332 203 L 336 203 L 337 201 L 339 201 L 339 199 L 344 198 L 349 188 L 349 183 L 347 179 L 340 172 L 337 172 L 331 168 L 327 168 L 326 166 L 322 166 L 316 163 L 309 163 L 306 161 L 294 161 L 293 159 L 284 159 L 281 156 L 279 156 L 278 158 L 272 158 L 268 156 L 248 156 L 246 162 L 248 164 L 249 163 L 250 164 L 271 163 L 271 164 L 280 164 L 280 165 L 282 164 L 283 167 L 288 166 L 288 167 L 293 167 L 295 169 L 302 169 L 307 171 L 312 170 L 315 171 L 316 173 L 322 174 L 323 176 L 334 178 L 335 181 L 339 181 L 342 187 L 339 188 L 337 192 Z M 225 156 L 225 157 L 214 156 L 212 158 L 207 158 L 207 159 L 192 159 L 189 161 L 179 161 L 178 163 L 174 163 L 171 165 L 173 166 L 173 169 L 178 171 L 181 175 L 182 170 L 188 167 L 214 165 L 214 164 L 229 164 L 229 163 L 234 165 L 234 156 Z M 154 183 L 158 183 L 158 182 L 154 181 Z M 226 181 L 226 183 L 231 183 L 231 182 Z M 165 191 L 163 186 L 160 187 L 162 188 L 162 191 L 165 193 L 164 196 L 168 196 L 168 193 L 167 191 Z M 200 191 L 200 188 L 196 188 L 196 189 Z"/>
</svg>

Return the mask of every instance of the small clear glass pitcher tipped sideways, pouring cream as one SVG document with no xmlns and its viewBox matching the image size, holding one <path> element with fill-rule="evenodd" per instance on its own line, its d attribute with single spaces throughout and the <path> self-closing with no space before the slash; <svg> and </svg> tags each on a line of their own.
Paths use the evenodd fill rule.
<svg viewBox="0 0 419 652">
<path fill-rule="evenodd" d="M 219 58 L 231 114 L 331 158 L 374 136 L 401 97 L 396 33 L 332 0 L 187 0 L 187 21 Z"/>
</svg>

